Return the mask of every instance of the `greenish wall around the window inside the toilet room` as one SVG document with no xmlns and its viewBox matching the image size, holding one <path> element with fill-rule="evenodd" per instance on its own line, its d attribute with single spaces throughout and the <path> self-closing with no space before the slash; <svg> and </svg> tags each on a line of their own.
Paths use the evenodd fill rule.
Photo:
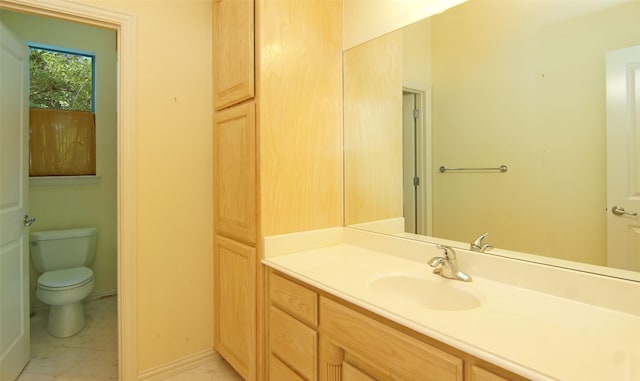
<svg viewBox="0 0 640 381">
<path fill-rule="evenodd" d="M 34 186 L 29 213 L 37 221 L 31 231 L 96 226 L 96 256 L 91 265 L 94 294 L 116 292 L 116 50 L 115 32 L 45 17 L 2 11 L 3 22 L 29 43 L 53 45 L 96 54 L 96 142 L 100 180 L 82 185 Z M 31 305 L 39 274 L 31 269 Z"/>
</svg>

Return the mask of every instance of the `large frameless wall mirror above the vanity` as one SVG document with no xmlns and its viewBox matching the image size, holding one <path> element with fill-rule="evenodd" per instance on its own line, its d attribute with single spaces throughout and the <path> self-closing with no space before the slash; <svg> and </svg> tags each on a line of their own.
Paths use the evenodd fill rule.
<svg viewBox="0 0 640 381">
<path fill-rule="evenodd" d="M 638 20 L 469 0 L 346 50 L 346 225 L 640 280 Z"/>
</svg>

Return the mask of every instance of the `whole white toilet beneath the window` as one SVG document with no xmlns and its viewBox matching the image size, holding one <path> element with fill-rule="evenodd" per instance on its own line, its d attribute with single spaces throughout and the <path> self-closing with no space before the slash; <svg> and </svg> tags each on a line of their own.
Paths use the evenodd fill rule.
<svg viewBox="0 0 640 381">
<path fill-rule="evenodd" d="M 82 300 L 94 288 L 89 264 L 96 251 L 96 228 L 33 232 L 31 260 L 42 275 L 36 297 L 50 305 L 47 330 L 56 337 L 76 334 L 85 325 Z"/>
</svg>

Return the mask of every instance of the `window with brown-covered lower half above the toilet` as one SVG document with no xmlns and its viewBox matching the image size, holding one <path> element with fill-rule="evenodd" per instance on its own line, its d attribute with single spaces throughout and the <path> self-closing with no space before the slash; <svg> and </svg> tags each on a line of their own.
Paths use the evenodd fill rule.
<svg viewBox="0 0 640 381">
<path fill-rule="evenodd" d="M 95 56 L 30 48 L 29 176 L 95 175 Z"/>
</svg>

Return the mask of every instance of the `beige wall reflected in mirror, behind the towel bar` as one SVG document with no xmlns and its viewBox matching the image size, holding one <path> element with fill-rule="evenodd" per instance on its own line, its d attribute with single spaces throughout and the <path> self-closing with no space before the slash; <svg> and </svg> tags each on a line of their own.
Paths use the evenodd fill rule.
<svg viewBox="0 0 640 381">
<path fill-rule="evenodd" d="M 471 1 L 432 20 L 434 235 L 500 232 L 497 247 L 603 265 L 604 57 L 640 43 L 640 3 L 580 14 L 567 2 L 551 19 L 554 6 Z"/>
</svg>

